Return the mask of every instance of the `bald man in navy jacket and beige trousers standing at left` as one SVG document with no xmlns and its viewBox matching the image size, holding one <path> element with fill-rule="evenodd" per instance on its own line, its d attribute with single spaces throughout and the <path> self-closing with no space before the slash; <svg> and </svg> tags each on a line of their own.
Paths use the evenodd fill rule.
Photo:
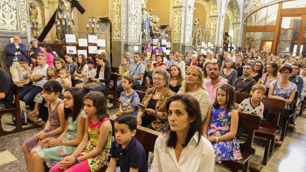
<svg viewBox="0 0 306 172">
<path fill-rule="evenodd" d="M 9 65 L 9 71 L 12 75 L 13 81 L 16 82 L 22 77 L 22 67 L 20 65 L 20 59 L 25 57 L 25 45 L 20 43 L 19 36 L 14 36 L 14 42 L 7 45 L 6 54 L 7 65 Z"/>
</svg>

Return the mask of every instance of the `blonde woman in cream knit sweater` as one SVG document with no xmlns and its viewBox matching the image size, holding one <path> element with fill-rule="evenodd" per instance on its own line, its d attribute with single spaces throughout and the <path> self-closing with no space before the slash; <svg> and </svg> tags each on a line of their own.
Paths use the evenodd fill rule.
<svg viewBox="0 0 306 172">
<path fill-rule="evenodd" d="M 182 87 L 177 94 L 189 94 L 200 104 L 201 115 L 205 120 L 210 105 L 209 94 L 204 87 L 204 78 L 202 69 L 197 66 L 189 66 L 186 72 L 186 78 L 182 83 Z"/>
</svg>

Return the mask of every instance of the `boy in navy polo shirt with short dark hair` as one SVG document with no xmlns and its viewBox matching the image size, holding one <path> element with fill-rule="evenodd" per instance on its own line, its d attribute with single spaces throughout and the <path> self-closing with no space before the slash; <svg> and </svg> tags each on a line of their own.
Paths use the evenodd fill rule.
<svg viewBox="0 0 306 172">
<path fill-rule="evenodd" d="M 111 159 L 106 172 L 114 172 L 117 161 L 121 172 L 148 171 L 146 151 L 134 137 L 136 128 L 137 120 L 132 114 L 121 114 L 115 119 L 116 140 L 110 149 Z"/>
</svg>

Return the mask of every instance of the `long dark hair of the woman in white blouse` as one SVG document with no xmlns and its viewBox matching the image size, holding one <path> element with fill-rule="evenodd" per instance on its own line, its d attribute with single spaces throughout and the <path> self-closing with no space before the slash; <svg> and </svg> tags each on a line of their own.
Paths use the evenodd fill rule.
<svg viewBox="0 0 306 172">
<path fill-rule="evenodd" d="M 166 111 L 169 111 L 169 106 L 170 103 L 176 100 L 180 100 L 182 103 L 185 104 L 185 110 L 188 113 L 189 118 L 194 118 L 194 121 L 190 123 L 190 127 L 186 136 L 185 143 L 182 144 L 182 146 L 185 148 L 193 135 L 196 133 L 196 131 L 199 132 L 199 141 L 196 145 L 200 143 L 202 133 L 203 133 L 203 121 L 202 121 L 202 116 L 201 116 L 201 110 L 200 110 L 200 105 L 199 102 L 192 97 L 191 95 L 188 94 L 177 94 L 168 99 L 166 102 Z M 167 126 L 166 135 L 169 135 L 169 139 L 166 140 L 167 142 L 167 147 L 168 148 L 175 148 L 176 142 L 177 142 L 177 135 L 175 131 L 171 131 L 170 125 Z"/>
</svg>

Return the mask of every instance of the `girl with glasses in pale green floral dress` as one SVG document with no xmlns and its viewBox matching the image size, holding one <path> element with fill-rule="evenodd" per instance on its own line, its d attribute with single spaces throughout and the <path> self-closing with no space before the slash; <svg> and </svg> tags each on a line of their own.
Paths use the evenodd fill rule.
<svg viewBox="0 0 306 172">
<path fill-rule="evenodd" d="M 39 147 L 30 153 L 28 171 L 45 171 L 71 155 L 83 139 L 86 115 L 82 110 L 83 92 L 76 87 L 64 92 L 65 131 L 57 138 L 39 141 Z M 86 124 L 87 125 L 87 124 Z"/>
</svg>

